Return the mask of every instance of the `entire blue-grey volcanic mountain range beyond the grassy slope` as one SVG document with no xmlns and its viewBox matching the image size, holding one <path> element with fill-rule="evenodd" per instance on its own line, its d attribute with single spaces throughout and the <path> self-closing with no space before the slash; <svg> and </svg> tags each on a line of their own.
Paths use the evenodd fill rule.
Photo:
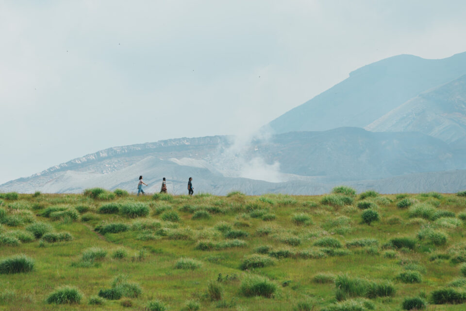
<svg viewBox="0 0 466 311">
<path fill-rule="evenodd" d="M 380 192 L 466 188 L 466 52 L 441 60 L 399 55 L 345 81 L 263 129 L 273 135 L 178 138 L 108 148 L 0 185 L 0 191 L 320 194 L 346 184 Z M 344 126 L 344 127 L 342 127 Z M 365 127 L 366 129 L 363 129 Z M 311 131 L 312 130 L 312 131 Z"/>
</svg>

